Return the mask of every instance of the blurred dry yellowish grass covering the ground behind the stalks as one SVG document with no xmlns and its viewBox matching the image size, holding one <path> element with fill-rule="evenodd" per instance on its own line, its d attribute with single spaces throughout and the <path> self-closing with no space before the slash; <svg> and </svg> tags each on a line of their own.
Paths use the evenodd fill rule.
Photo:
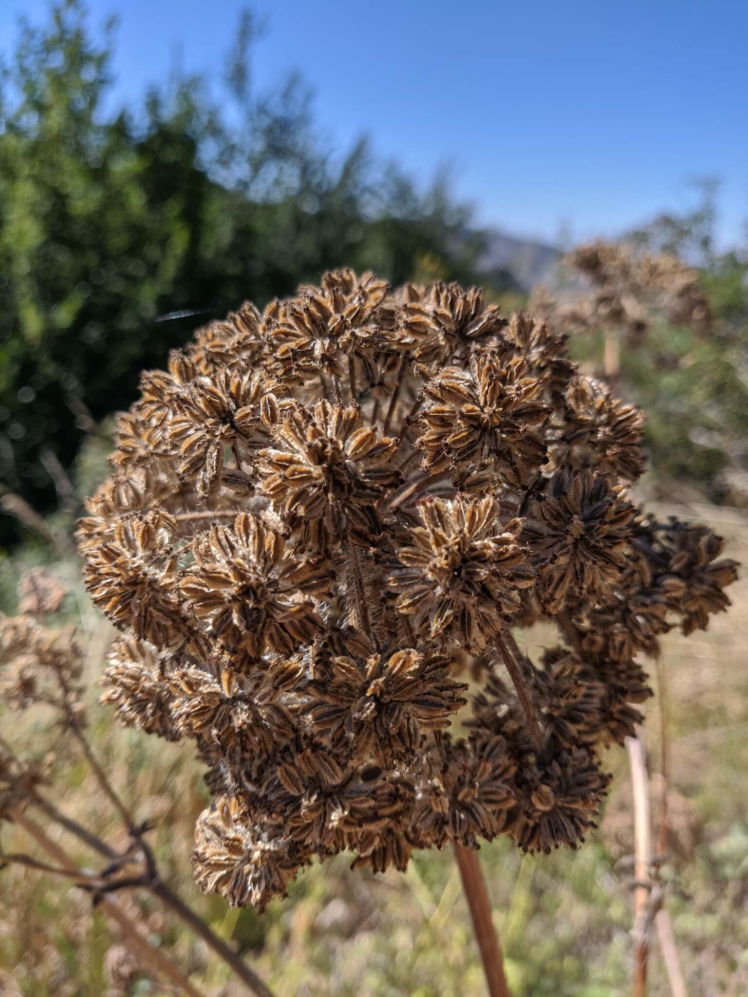
<svg viewBox="0 0 748 997">
<path fill-rule="evenodd" d="M 748 517 L 722 508 L 676 509 L 703 518 L 748 560 Z M 658 512 L 668 509 L 659 508 Z M 6 587 L 17 565 L 2 567 Z M 109 632 L 90 608 L 72 564 L 59 565 L 73 590 L 71 613 L 86 632 L 91 684 L 100 672 Z M 748 817 L 745 741 L 748 675 L 744 614 L 748 581 L 730 591 L 729 614 L 686 645 L 677 634 L 663 642 L 671 714 L 671 833 L 663 877 L 689 992 L 748 992 Z M 544 643 L 541 628 L 530 632 Z M 533 651 L 531 646 L 530 650 Z M 650 770 L 657 770 L 657 716 L 649 706 Z M 481 995 L 484 982 L 452 854 L 417 853 L 406 875 L 350 874 L 344 855 L 314 865 L 269 912 L 228 910 L 200 894 L 188 859 L 194 820 L 207 793 L 184 748 L 113 726 L 92 712 L 92 738 L 115 784 L 141 817 L 153 817 L 156 852 L 172 884 L 223 937 L 231 938 L 279 995 L 450 997 Z M 3 714 L 3 734 L 32 753 L 55 754 L 54 799 L 100 833 L 117 823 L 72 746 L 56 744 L 49 718 Z M 513 992 L 555 997 L 614 997 L 628 989 L 631 945 L 632 820 L 625 755 L 611 752 L 618 778 L 594 840 L 578 852 L 525 857 L 511 842 L 484 845 L 495 919 Z M 656 780 L 653 780 L 656 789 Z M 60 838 L 63 839 L 62 837 Z M 19 831 L 5 829 L 7 848 L 31 850 Z M 120 838 L 120 843 L 124 839 Z M 92 855 L 65 837 L 82 861 Z M 119 943 L 90 899 L 62 880 L 30 869 L 3 873 L 0 909 L 0 993 L 33 997 L 162 995 L 161 981 L 141 977 L 117 989 L 107 953 Z M 208 994 L 238 994 L 219 965 L 151 897 L 127 900 L 158 941 Z M 669 993 L 656 942 L 650 955 L 650 994 Z"/>
</svg>

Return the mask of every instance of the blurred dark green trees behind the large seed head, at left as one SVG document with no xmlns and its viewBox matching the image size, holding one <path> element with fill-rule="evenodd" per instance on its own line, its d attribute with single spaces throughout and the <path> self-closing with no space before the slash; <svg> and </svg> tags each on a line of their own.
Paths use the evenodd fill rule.
<svg viewBox="0 0 748 997">
<path fill-rule="evenodd" d="M 40 510 L 54 459 L 196 325 L 330 266 L 469 279 L 479 249 L 445 178 L 420 192 L 364 140 L 334 158 L 296 77 L 255 93 L 250 14 L 219 97 L 178 75 L 138 113 L 107 110 L 113 30 L 56 3 L 0 81 L 0 479 Z"/>
</svg>

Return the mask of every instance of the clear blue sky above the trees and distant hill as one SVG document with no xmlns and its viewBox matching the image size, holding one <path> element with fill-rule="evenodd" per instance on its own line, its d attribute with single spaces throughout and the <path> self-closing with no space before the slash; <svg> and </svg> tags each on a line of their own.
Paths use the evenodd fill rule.
<svg viewBox="0 0 748 997">
<path fill-rule="evenodd" d="M 221 71 L 240 0 L 94 0 L 120 18 L 117 96 L 137 99 L 176 53 Z M 615 234 L 722 180 L 718 234 L 748 218 L 745 0 L 258 0 L 256 79 L 299 70 L 336 148 L 368 133 L 420 177 L 453 168 L 483 222 L 555 239 Z M 0 0 L 2 48 L 22 11 Z"/>
</svg>

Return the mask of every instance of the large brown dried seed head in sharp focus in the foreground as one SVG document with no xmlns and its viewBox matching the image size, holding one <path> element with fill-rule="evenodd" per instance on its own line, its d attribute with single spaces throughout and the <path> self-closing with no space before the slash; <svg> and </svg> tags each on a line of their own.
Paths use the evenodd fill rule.
<svg viewBox="0 0 748 997">
<path fill-rule="evenodd" d="M 104 702 L 204 760 L 203 889 L 264 909 L 314 855 L 583 840 L 597 750 L 650 695 L 637 654 L 735 578 L 626 498 L 641 427 L 545 322 L 350 270 L 143 376 L 79 540 L 122 631 Z"/>
</svg>

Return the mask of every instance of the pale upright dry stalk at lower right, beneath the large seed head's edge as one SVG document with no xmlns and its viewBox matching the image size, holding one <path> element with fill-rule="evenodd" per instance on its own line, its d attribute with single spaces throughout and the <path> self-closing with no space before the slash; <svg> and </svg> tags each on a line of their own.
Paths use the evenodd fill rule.
<svg viewBox="0 0 748 997">
<path fill-rule="evenodd" d="M 647 908 L 651 883 L 649 881 L 652 840 L 649 816 L 649 792 L 644 763 L 644 745 L 639 731 L 635 738 L 626 741 L 628 763 L 631 768 L 631 791 L 633 794 L 634 815 L 634 951 L 633 951 L 633 997 L 646 994 L 646 963 L 649 954 L 649 926 Z"/>
</svg>

